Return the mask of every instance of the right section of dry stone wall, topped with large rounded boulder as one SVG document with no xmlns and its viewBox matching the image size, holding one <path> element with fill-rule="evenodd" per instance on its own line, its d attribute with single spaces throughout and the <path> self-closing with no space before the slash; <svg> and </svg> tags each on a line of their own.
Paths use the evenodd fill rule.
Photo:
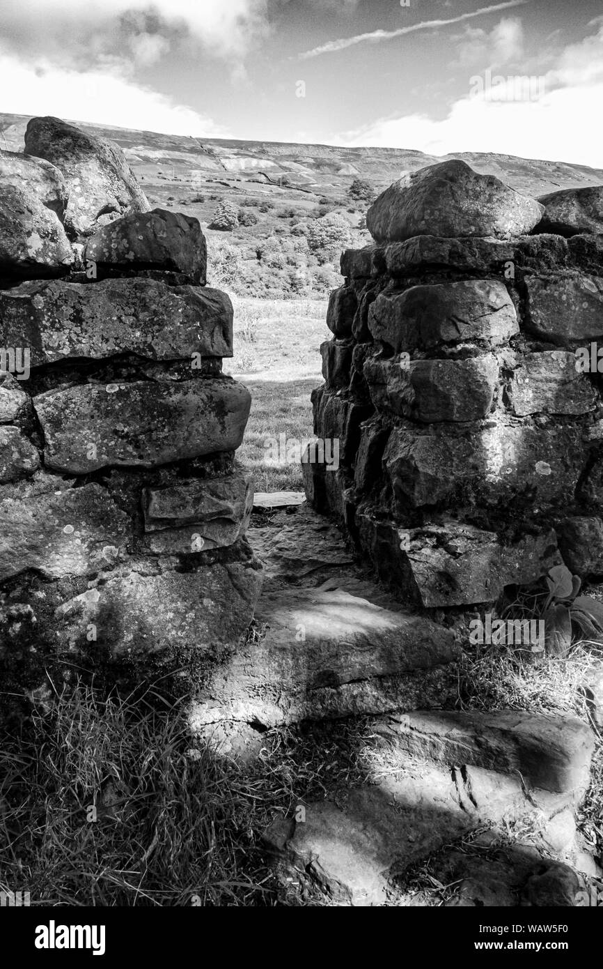
<svg viewBox="0 0 603 969">
<path fill-rule="evenodd" d="M 306 490 L 408 602 L 492 603 L 562 559 L 603 574 L 603 384 L 581 366 L 603 341 L 603 192 L 586 192 L 539 203 L 444 162 L 379 196 L 375 243 L 342 256 L 313 392 L 340 467 L 311 446 Z"/>
</svg>

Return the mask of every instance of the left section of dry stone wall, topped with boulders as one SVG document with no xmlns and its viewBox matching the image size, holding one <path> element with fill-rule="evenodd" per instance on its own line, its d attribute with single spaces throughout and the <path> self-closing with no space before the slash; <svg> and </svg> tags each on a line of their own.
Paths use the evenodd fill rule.
<svg viewBox="0 0 603 969">
<path fill-rule="evenodd" d="M 232 306 L 119 148 L 36 118 L 25 149 L 0 152 L 3 690 L 198 678 L 260 584 Z"/>
</svg>

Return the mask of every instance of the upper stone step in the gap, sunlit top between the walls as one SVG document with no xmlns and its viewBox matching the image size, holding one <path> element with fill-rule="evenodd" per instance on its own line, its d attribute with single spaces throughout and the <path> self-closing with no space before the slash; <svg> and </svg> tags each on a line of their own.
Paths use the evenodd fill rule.
<svg viewBox="0 0 603 969">
<path fill-rule="evenodd" d="M 445 695 L 442 667 L 459 655 L 452 632 L 397 603 L 377 605 L 372 593 L 380 602 L 382 594 L 371 582 L 352 579 L 350 591 L 331 584 L 262 593 L 259 637 L 239 648 L 197 698 L 197 730 L 382 713 Z"/>
</svg>

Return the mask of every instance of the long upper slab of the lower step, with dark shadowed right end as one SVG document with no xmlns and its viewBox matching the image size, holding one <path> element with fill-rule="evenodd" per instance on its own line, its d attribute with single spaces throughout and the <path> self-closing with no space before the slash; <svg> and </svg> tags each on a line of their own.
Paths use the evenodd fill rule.
<svg viewBox="0 0 603 969">
<path fill-rule="evenodd" d="M 390 714 L 377 730 L 415 757 L 519 771 L 529 786 L 569 794 L 576 801 L 588 788 L 594 736 L 576 716 L 420 710 Z"/>
</svg>

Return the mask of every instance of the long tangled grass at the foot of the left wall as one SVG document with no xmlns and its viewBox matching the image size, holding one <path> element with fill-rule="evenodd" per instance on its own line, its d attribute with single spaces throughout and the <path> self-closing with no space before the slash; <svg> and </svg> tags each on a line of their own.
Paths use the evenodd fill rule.
<svg viewBox="0 0 603 969">
<path fill-rule="evenodd" d="M 29 891 L 32 905 L 282 904 L 261 832 L 359 777 L 359 730 L 267 735 L 244 769 L 195 746 L 182 710 L 154 693 L 66 689 L 1 738 L 0 891 Z M 308 891 L 286 904 L 316 904 Z"/>
</svg>

